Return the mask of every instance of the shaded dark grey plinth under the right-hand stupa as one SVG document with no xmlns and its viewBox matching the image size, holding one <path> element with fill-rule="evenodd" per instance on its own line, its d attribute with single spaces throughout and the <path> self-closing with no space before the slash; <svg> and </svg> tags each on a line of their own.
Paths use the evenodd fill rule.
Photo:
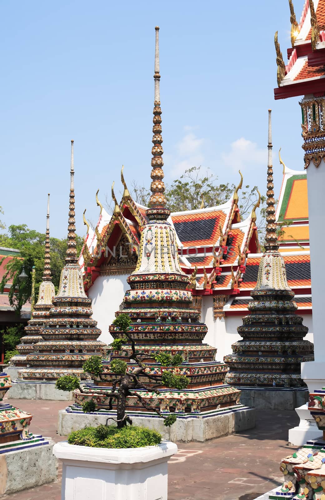
<svg viewBox="0 0 325 500">
<path fill-rule="evenodd" d="M 308 388 L 238 387 L 240 402 L 256 409 L 295 409 L 308 401 Z M 305 441 L 304 441 L 305 442 Z"/>
</svg>

